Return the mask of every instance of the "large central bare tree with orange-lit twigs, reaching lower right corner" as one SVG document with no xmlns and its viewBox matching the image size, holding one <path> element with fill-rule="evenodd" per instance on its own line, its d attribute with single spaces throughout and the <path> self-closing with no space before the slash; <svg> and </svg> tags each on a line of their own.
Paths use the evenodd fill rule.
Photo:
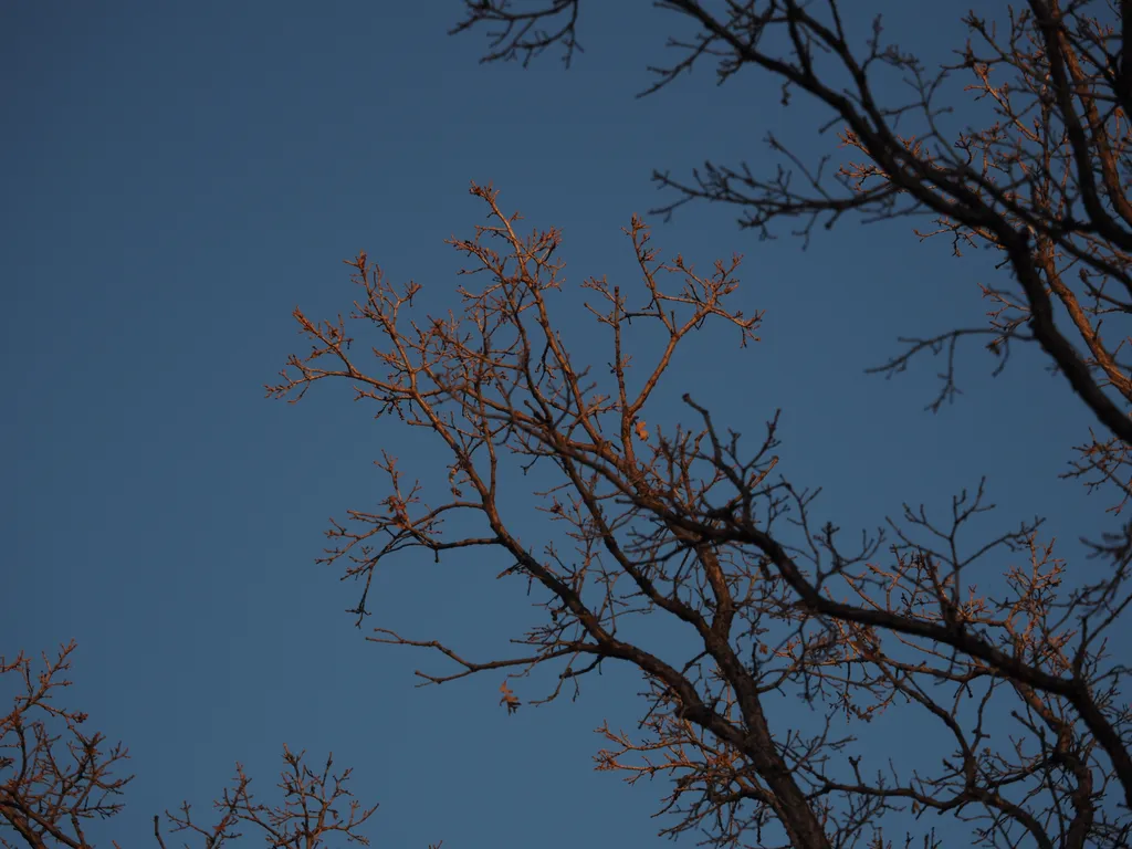
<svg viewBox="0 0 1132 849">
<path fill-rule="evenodd" d="M 419 672 L 426 683 L 504 674 L 508 711 L 576 695 L 604 661 L 635 667 L 648 683 L 641 734 L 603 729 L 598 763 L 631 781 L 674 779 L 664 811 L 675 824 L 662 833 L 702 831 L 719 846 L 886 846 L 892 834 L 936 846 L 933 826 L 917 822 L 935 813 L 988 846 L 1126 844 L 1124 668 L 1105 643 L 1125 603 L 1122 574 L 1061 591 L 1065 564 L 1037 521 L 966 546 L 960 533 L 990 509 L 981 484 L 943 520 L 906 508 L 886 549 L 884 534 L 842 543 L 832 524 L 813 524 L 813 494 L 779 468 L 777 418 L 751 447 L 687 395 L 694 427 L 649 422 L 689 334 L 714 323 L 740 345 L 753 338 L 762 316 L 728 306 L 737 257 L 709 274 L 680 256 L 662 261 L 634 218 L 626 233 L 642 288 L 582 284 L 608 342 L 599 357 L 588 336 L 594 359 L 583 360 L 556 323 L 559 232 L 523 234 L 494 189 L 471 191 L 488 223 L 451 242 L 465 273 L 480 275 L 458 290 L 458 311 L 421 315 L 421 285 L 394 285 L 361 254 L 348 263 L 360 289 L 349 325 L 297 309 L 311 348 L 268 392 L 298 401 L 316 381 L 345 381 L 379 417 L 431 431 L 447 452 L 441 494 L 384 455 L 381 506 L 327 532 L 325 561 L 361 582 L 359 625 L 375 571 L 411 549 L 477 550 L 479 561 L 495 551 L 540 614 L 515 636 L 526 648 L 515 657 L 472 659 L 380 627 L 371 640 L 446 658 L 448 670 Z M 631 358 L 631 324 L 637 340 L 652 328 L 654 358 Z M 521 471 L 546 481 L 534 495 L 560 532 L 542 543 L 500 506 Z M 448 534 L 446 523 L 478 530 Z M 990 566 L 1002 576 L 993 599 L 972 574 Z M 634 618 L 650 614 L 687 633 L 686 652 L 634 642 Z M 532 698 L 523 691 L 538 681 Z M 816 730 L 773 726 L 767 700 L 782 693 L 814 706 Z M 887 763 L 855 735 L 886 711 L 926 723 L 925 738 L 950 751 Z M 992 744 L 1003 721 L 1011 741 L 996 727 Z"/>
</svg>

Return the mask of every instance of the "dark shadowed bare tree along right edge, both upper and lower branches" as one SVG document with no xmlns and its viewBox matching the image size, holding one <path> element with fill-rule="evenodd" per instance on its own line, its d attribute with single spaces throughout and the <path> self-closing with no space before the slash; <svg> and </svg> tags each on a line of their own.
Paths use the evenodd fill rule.
<svg viewBox="0 0 1132 849">
<path fill-rule="evenodd" d="M 470 0 L 453 32 L 486 27 L 484 61 L 525 65 L 560 48 L 568 62 L 580 49 L 582 6 L 581 0 Z M 674 58 L 658 62 L 655 83 L 642 94 L 662 92 L 694 66 L 712 62 L 721 84 L 773 80 L 786 104 L 801 93 L 826 110 L 817 134 L 835 136 L 815 161 L 769 132 L 766 158 L 777 161 L 765 173 L 747 163 L 711 162 L 689 179 L 655 171 L 653 179 L 676 196 L 657 212 L 671 214 L 689 201 L 728 204 L 739 212 L 740 226 L 774 238 L 786 225 L 806 243 L 820 237 L 817 224 L 832 228 L 847 214 L 865 222 L 909 217 L 931 221 L 916 223 L 914 232 L 949 239 L 957 256 L 974 247 L 997 252 L 1000 277 L 979 284 L 994 305 L 989 323 L 903 338 L 906 349 L 874 370 L 892 376 L 919 354 L 943 354 L 944 379 L 929 404 L 937 410 L 955 393 L 955 352 L 968 338 L 988 338 L 986 348 L 1001 358 L 996 372 L 1012 344 L 1036 343 L 1097 424 L 1073 447 L 1063 477 L 1108 490 L 1109 512 L 1118 515 L 1132 491 L 1132 374 L 1125 351 L 1132 311 L 1132 2 L 977 5 L 962 17 L 967 38 L 955 45 L 954 60 L 935 68 L 895 44 L 880 17 L 858 34 L 855 26 L 869 16 L 859 3 L 666 0 L 653 7 L 679 22 L 684 34 L 669 40 Z M 642 5 L 638 14 L 650 12 Z M 907 83 L 910 96 L 883 96 L 880 83 L 886 77 Z M 713 457 L 712 468 L 739 469 L 727 453 L 730 443 L 718 439 L 717 447 L 704 415 L 712 445 L 704 453 Z M 735 484 L 732 499 L 745 505 L 748 491 Z M 790 549 L 777 547 L 765 525 L 739 532 L 747 520 L 738 521 L 732 501 L 720 515 L 709 512 L 718 505 L 703 507 L 701 521 L 713 518 L 723 530 L 705 528 L 696 539 L 749 546 L 773 563 L 770 574 L 790 585 L 794 602 L 823 628 L 840 634 L 864 627 L 881 638 L 880 646 L 868 643 L 881 654 L 868 655 L 866 677 L 894 676 L 902 683 L 889 686 L 938 713 L 902 689 L 910 679 L 901 675 L 910 671 L 892 666 L 893 641 L 903 659 L 912 640 L 919 650 L 941 652 L 941 662 L 946 658 L 942 679 L 959 685 L 971 676 L 996 698 L 1009 693 L 1024 705 L 1003 714 L 1020 724 L 1020 739 L 1030 740 L 1018 744 L 1012 764 L 998 760 L 1001 752 L 985 760 L 975 754 L 986 734 L 979 730 L 949 762 L 952 784 L 917 778 L 900 789 L 886 778 L 885 787 L 877 781 L 864 790 L 855 766 L 858 799 L 903 798 L 919 809 L 942 805 L 957 816 L 981 809 L 986 826 L 979 837 L 993 844 L 1013 846 L 1020 833 L 1038 846 L 1127 840 L 1132 757 L 1121 688 L 1127 650 L 1113 652 L 1105 635 L 1116 635 L 1114 645 L 1126 644 L 1132 523 L 1090 543 L 1110 568 L 1087 581 L 1063 582 L 1065 566 L 1037 543 L 1036 525 L 1002 538 L 1001 544 L 1028 554 L 1029 563 L 1023 568 L 1002 560 L 995 572 L 1013 592 L 992 604 L 986 589 L 964 595 L 970 578 L 961 577 L 961 569 L 974 560 L 957 552 L 953 533 L 983 509 L 981 488 L 972 498 L 957 499 L 951 530 L 934 525 L 923 511 L 907 511 L 906 526 L 933 542 L 925 546 L 894 526 L 900 541 L 894 565 L 860 568 L 822 540 L 817 548 L 830 564 L 824 572 L 816 564 L 798 571 Z M 977 554 L 986 559 L 993 551 Z M 834 577 L 855 590 L 872 586 L 874 594 L 861 597 L 863 603 L 833 603 L 823 588 Z M 921 675 L 915 669 L 914 678 Z M 961 689 L 971 693 L 966 681 Z M 981 722 L 992 702 L 978 704 Z M 957 717 L 945 721 L 940 713 L 958 741 Z M 1028 795 L 1039 786 L 1045 796 Z M 924 794 L 927 788 L 934 791 Z M 852 803 L 847 797 L 844 804 Z M 1108 812 L 1104 822 L 1101 809 Z M 844 842 L 842 834 L 826 827 L 832 842 Z"/>
</svg>

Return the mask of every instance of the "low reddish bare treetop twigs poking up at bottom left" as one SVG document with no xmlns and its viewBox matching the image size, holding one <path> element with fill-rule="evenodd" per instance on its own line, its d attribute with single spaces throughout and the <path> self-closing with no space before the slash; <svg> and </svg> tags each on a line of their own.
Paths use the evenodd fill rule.
<svg viewBox="0 0 1132 849">
<path fill-rule="evenodd" d="M 118 778 L 114 772 L 127 760 L 126 749 L 121 744 L 106 747 L 102 734 L 87 735 L 80 728 L 87 715 L 54 702 L 57 691 L 70 685 L 62 676 L 70 669 L 75 648 L 71 642 L 54 660 L 44 657 L 44 669 L 37 675 L 24 654 L 11 662 L 0 659 L 0 675 L 22 678 L 24 691 L 16 696 L 11 713 L 0 718 L 0 846 L 88 849 L 89 821 L 122 811 L 120 798 L 134 777 Z M 188 832 L 208 849 L 220 849 L 245 829 L 280 849 L 316 849 L 327 846 L 333 835 L 369 846 L 358 829 L 377 806 L 362 808 L 346 789 L 351 771 L 332 773 L 333 757 L 327 757 L 324 770 L 315 772 L 302 758 L 302 753 L 283 747 L 281 805 L 257 801 L 250 779 L 237 764 L 233 787 L 214 803 L 216 822 L 207 826 L 195 822 L 189 804 L 183 803 L 179 813 L 165 814 L 171 831 Z M 165 849 L 158 816 L 153 817 L 153 829 L 156 843 Z M 9 831 L 22 840 L 12 842 Z"/>
</svg>

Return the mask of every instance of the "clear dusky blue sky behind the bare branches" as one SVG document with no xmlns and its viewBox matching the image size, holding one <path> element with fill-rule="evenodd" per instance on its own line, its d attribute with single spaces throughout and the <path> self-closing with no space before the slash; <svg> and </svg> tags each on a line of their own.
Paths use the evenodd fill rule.
<svg viewBox="0 0 1132 849">
<path fill-rule="evenodd" d="M 365 642 L 343 612 L 353 586 L 312 563 L 323 531 L 385 495 L 381 449 L 411 470 L 432 446 L 372 421 L 345 387 L 289 406 L 263 385 L 303 345 L 295 305 L 349 309 L 341 260 L 360 249 L 423 283 L 427 308 L 456 306 L 458 258 L 443 241 L 482 220 L 470 180 L 494 181 L 529 224 L 560 226 L 575 283 L 635 283 L 620 228 L 671 199 L 652 168 L 766 166 L 772 127 L 811 154 L 832 143 L 812 134 L 818 113 L 800 101 L 783 112 L 760 77 L 717 88 L 704 66 L 634 100 L 675 23 L 651 7 L 593 3 L 572 69 L 546 57 L 524 71 L 478 65 L 482 35 L 448 37 L 458 6 L 0 11 L 0 653 L 79 642 L 70 704 L 129 746 L 138 775 L 101 832 L 123 846 L 152 840 L 152 815 L 181 799 L 203 813 L 237 760 L 269 797 L 284 743 L 354 767 L 354 791 L 380 803 L 376 846 L 649 844 L 662 824 L 649 818 L 661 786 L 592 771 L 592 729 L 637 717 L 632 672 L 507 717 L 498 679 L 414 689 L 427 658 Z M 904 46 L 935 57 L 955 43 L 960 7 L 887 6 Z M 907 222 L 844 221 L 806 251 L 704 205 L 655 225 L 657 246 L 701 267 L 744 254 L 743 302 L 766 310 L 747 351 L 695 340 L 667 397 L 694 391 L 752 436 L 781 406 L 782 471 L 824 487 L 823 516 L 875 528 L 901 501 L 944 508 L 987 474 L 1003 523 L 1053 514 L 1065 556 L 1103 526 L 1098 498 L 1056 479 L 1088 419 L 1032 353 L 998 379 L 984 352 L 964 357 L 966 394 L 937 415 L 923 406 L 938 363 L 892 381 L 863 374 L 898 335 L 977 325 L 988 258 L 952 259 Z M 590 338 L 582 323 L 565 329 Z M 512 487 L 516 503 L 529 491 Z M 499 568 L 405 561 L 383 576 L 371 623 L 506 651 L 525 602 L 495 582 Z M 917 734 L 885 727 L 898 744 Z"/>
</svg>

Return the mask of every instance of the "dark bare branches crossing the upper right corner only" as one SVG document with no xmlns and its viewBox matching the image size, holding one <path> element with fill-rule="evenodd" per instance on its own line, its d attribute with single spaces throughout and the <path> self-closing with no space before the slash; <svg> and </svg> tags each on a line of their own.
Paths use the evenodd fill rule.
<svg viewBox="0 0 1132 849">
<path fill-rule="evenodd" d="M 465 0 L 453 33 L 487 27 L 483 61 L 526 65 L 558 46 L 568 62 L 580 50 L 582 5 L 532 0 L 516 9 L 511 0 Z M 957 45 L 954 62 L 936 69 L 887 41 L 880 16 L 856 38 L 854 23 L 869 16 L 859 3 L 652 6 L 692 29 L 669 40 L 676 59 L 651 69 L 655 83 L 642 94 L 713 61 L 721 84 L 762 74 L 781 85 L 784 103 L 797 92 L 808 95 L 827 110 L 816 131 L 837 131 L 817 162 L 767 132 L 778 162 L 765 177 L 746 163 L 707 162 L 691 180 L 657 171 L 653 179 L 678 195 L 659 212 L 697 199 L 729 204 L 740 211 L 741 226 L 764 238 L 786 220 L 807 242 L 815 224 L 832 228 L 848 213 L 865 221 L 928 218 L 932 224 L 915 232 L 950 238 L 957 255 L 968 247 L 997 251 L 1007 271 L 1002 284 L 980 284 L 995 305 L 989 326 L 901 340 L 908 350 L 876 370 L 893 374 L 918 353 L 946 352 L 937 409 L 955 391 L 960 340 L 988 335 L 1002 365 L 1012 342 L 1036 342 L 1103 431 L 1077 448 L 1067 477 L 1115 487 L 1123 505 L 1132 492 L 1132 378 L 1121 353 L 1132 310 L 1132 2 L 979 3 L 979 14 L 962 18 L 968 38 Z M 986 16 L 988 7 L 994 17 Z M 907 83 L 909 98 L 885 102 L 877 83 L 886 77 Z M 962 126 L 949 131 L 957 120 Z M 846 147 L 861 158 L 846 158 L 839 153 Z M 1105 550 L 1126 558 L 1132 525 L 1109 542 Z"/>
</svg>

